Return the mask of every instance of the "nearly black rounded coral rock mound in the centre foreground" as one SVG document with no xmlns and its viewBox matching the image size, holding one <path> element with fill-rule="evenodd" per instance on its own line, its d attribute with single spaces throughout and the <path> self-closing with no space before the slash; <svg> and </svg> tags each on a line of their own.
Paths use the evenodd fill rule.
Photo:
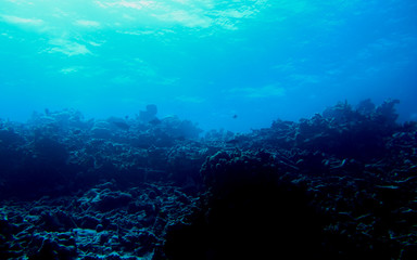
<svg viewBox="0 0 417 260">
<path fill-rule="evenodd" d="M 202 168 L 202 211 L 168 230 L 172 259 L 293 259 L 321 257 L 326 218 L 313 196 L 293 184 L 267 153 L 219 152 Z M 298 180 L 294 178 L 294 180 Z"/>
</svg>

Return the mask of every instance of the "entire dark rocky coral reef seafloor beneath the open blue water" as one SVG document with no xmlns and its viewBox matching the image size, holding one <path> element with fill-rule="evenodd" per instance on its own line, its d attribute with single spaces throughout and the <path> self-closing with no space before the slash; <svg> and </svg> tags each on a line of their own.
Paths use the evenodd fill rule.
<svg viewBox="0 0 417 260">
<path fill-rule="evenodd" d="M 396 103 L 204 138 L 176 117 L 1 120 L 0 259 L 415 260 L 417 123 Z"/>
</svg>

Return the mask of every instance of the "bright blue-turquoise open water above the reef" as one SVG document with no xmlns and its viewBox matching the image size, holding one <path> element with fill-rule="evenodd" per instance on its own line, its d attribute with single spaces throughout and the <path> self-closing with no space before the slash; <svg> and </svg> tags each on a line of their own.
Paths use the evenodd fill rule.
<svg viewBox="0 0 417 260">
<path fill-rule="evenodd" d="M 249 131 L 338 101 L 417 119 L 414 0 L 1 0 L 0 118 L 156 104 Z"/>
</svg>

